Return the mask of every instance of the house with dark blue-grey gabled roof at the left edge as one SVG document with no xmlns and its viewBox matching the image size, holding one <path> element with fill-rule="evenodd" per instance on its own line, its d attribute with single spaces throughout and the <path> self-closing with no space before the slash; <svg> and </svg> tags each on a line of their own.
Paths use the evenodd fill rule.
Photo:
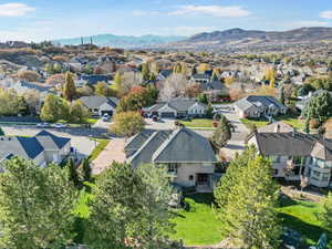
<svg viewBox="0 0 332 249">
<path fill-rule="evenodd" d="M 42 131 L 33 137 L 0 137 L 0 165 L 13 156 L 31 159 L 45 167 L 60 164 L 71 153 L 71 139 Z"/>
</svg>

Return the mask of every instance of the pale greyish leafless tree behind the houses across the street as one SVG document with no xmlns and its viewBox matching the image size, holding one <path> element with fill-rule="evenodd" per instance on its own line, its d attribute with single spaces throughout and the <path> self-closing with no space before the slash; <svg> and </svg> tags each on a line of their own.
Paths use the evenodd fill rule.
<svg viewBox="0 0 332 249">
<path fill-rule="evenodd" d="M 168 76 L 160 89 L 160 97 L 163 101 L 169 101 L 173 97 L 184 96 L 186 89 L 194 84 L 188 81 L 186 75 L 181 73 L 174 73 Z"/>
</svg>

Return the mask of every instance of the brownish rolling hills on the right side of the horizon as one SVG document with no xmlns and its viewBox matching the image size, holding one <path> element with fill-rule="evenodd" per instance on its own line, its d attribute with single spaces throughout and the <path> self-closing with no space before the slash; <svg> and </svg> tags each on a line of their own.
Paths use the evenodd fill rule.
<svg viewBox="0 0 332 249">
<path fill-rule="evenodd" d="M 332 28 L 312 27 L 289 31 L 230 29 L 198 33 L 183 41 L 175 42 L 172 46 L 177 49 L 240 48 L 315 42 L 332 42 Z"/>
</svg>

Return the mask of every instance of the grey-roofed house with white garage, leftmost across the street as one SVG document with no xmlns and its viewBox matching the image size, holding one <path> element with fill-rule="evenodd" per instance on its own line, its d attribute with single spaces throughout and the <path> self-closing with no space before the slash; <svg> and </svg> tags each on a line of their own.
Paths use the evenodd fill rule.
<svg viewBox="0 0 332 249">
<path fill-rule="evenodd" d="M 80 97 L 80 101 L 82 101 L 93 116 L 103 116 L 104 114 L 112 116 L 115 113 L 118 98 L 105 96 L 83 96 Z"/>
</svg>

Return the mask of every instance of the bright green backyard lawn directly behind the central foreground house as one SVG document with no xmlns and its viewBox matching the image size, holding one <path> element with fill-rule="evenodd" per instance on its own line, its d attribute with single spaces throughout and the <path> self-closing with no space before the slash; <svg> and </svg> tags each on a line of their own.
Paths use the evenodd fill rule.
<svg viewBox="0 0 332 249">
<path fill-rule="evenodd" d="M 176 234 L 174 239 L 181 239 L 185 245 L 209 246 L 222 240 L 221 225 L 211 208 L 211 194 L 196 194 L 186 197 L 186 209 L 176 211 Z"/>
</svg>

